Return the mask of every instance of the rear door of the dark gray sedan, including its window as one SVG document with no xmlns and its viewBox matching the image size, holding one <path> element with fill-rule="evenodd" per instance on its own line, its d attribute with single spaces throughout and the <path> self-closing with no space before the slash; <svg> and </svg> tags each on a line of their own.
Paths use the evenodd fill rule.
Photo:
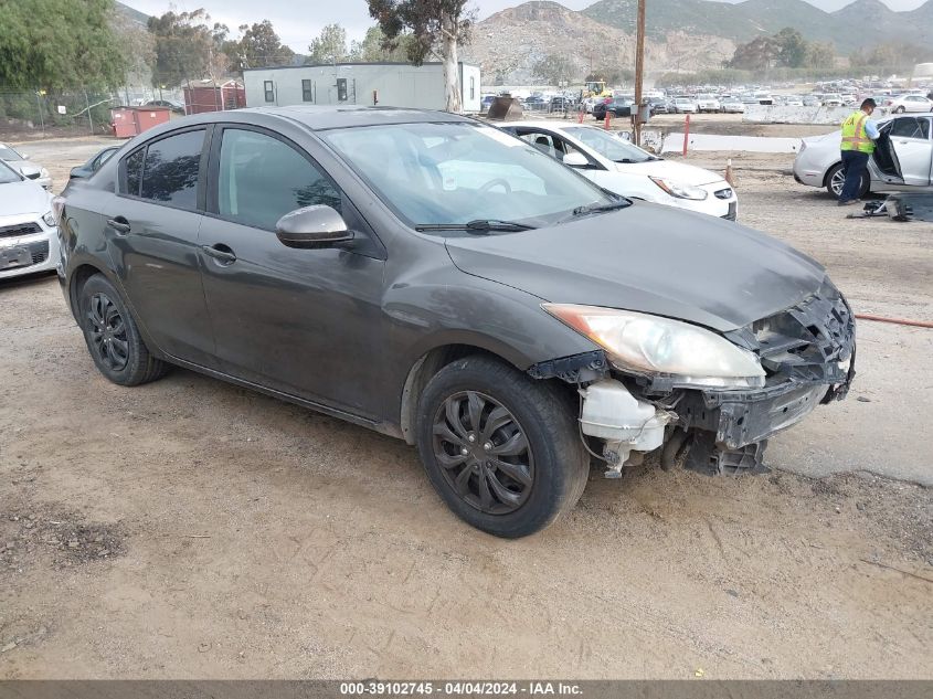
<svg viewBox="0 0 933 699">
<path fill-rule="evenodd" d="M 137 320 L 162 351 L 205 366 L 214 342 L 198 234 L 209 140 L 209 127 L 198 126 L 127 153 L 104 209 L 110 258 Z"/>
</svg>

